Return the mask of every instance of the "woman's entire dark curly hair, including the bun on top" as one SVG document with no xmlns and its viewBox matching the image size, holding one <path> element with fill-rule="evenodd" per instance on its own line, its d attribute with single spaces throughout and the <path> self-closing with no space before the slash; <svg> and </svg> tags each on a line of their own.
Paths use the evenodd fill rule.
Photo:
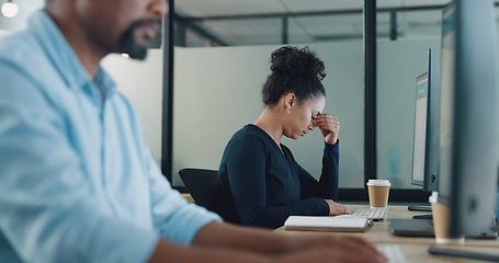
<svg viewBox="0 0 499 263">
<path fill-rule="evenodd" d="M 308 47 L 281 47 L 271 55 L 272 73 L 263 84 L 263 103 L 274 106 L 284 94 L 293 92 L 298 103 L 326 95 L 320 82 L 325 77 L 324 62 Z"/>
</svg>

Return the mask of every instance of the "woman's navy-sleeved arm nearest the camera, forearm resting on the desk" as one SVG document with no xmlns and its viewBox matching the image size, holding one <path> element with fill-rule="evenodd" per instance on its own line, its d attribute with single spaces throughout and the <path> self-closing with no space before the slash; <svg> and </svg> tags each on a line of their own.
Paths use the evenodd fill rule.
<svg viewBox="0 0 499 263">
<path fill-rule="evenodd" d="M 246 226 L 276 228 L 283 226 L 291 215 L 328 215 L 324 198 L 310 197 L 279 205 L 269 205 L 269 199 L 279 198 L 266 185 L 265 145 L 259 139 L 235 142 L 226 162 L 228 178 L 239 217 Z"/>
</svg>

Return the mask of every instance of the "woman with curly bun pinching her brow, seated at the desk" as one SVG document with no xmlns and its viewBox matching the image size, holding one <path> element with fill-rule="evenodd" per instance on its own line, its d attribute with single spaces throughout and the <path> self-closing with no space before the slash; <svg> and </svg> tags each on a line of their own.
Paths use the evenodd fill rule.
<svg viewBox="0 0 499 263">
<path fill-rule="evenodd" d="M 262 89 L 265 108 L 227 144 L 218 170 L 220 214 L 245 226 L 277 228 L 288 216 L 349 214 L 336 203 L 340 123 L 322 113 L 324 62 L 308 47 L 281 47 Z M 281 144 L 319 128 L 325 140 L 322 173 L 314 179 Z"/>
</svg>

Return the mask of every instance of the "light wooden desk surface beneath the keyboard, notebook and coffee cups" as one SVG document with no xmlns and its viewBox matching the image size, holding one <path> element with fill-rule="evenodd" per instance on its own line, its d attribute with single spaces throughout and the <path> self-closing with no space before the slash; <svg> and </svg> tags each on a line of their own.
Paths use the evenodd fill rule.
<svg viewBox="0 0 499 263">
<path fill-rule="evenodd" d="M 345 205 L 349 210 L 359 208 L 368 208 L 368 205 Z M 386 211 L 386 219 L 389 218 L 412 218 L 415 215 L 430 214 L 424 211 L 410 211 L 407 206 L 388 206 Z M 453 256 L 431 255 L 428 253 L 430 245 L 458 249 L 463 251 L 481 252 L 488 254 L 499 255 L 499 240 L 480 240 L 480 239 L 466 239 L 464 244 L 436 244 L 434 238 L 406 238 L 396 237 L 389 232 L 388 220 L 376 221 L 365 232 L 328 232 L 328 235 L 338 236 L 358 236 L 362 237 L 375 245 L 379 244 L 399 244 L 404 251 L 408 262 L 417 263 L 436 263 L 436 262 L 484 262 Z M 290 231 L 284 228 L 279 228 L 276 231 L 282 231 L 286 235 L 302 235 L 303 231 Z M 315 233 L 315 232 L 314 232 Z"/>
</svg>

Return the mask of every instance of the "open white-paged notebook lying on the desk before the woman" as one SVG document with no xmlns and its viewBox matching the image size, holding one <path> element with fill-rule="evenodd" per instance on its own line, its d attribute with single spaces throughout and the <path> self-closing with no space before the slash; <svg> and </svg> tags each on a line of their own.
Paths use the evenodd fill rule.
<svg viewBox="0 0 499 263">
<path fill-rule="evenodd" d="M 290 216 L 284 222 L 285 230 L 363 232 L 372 220 L 351 215 L 342 216 Z"/>
</svg>

